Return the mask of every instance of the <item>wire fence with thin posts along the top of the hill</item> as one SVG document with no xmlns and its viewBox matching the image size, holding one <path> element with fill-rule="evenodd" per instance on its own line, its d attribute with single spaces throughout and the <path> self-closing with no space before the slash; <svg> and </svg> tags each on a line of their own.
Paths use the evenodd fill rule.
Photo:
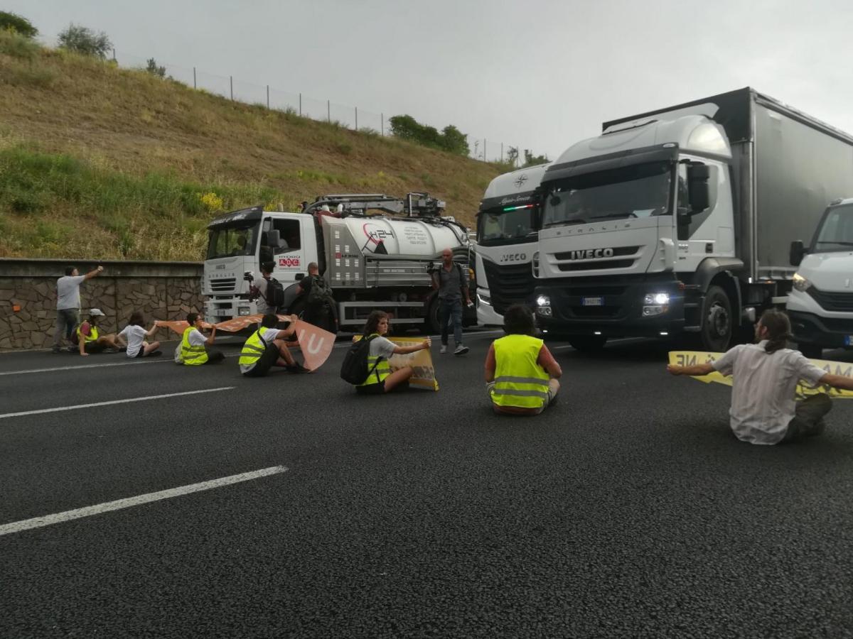
<svg viewBox="0 0 853 639">
<path fill-rule="evenodd" d="M 138 55 L 113 50 L 113 60 L 119 66 L 130 69 L 146 69 L 148 59 Z M 321 122 L 335 122 L 351 130 L 371 131 L 379 135 L 391 135 L 389 115 L 383 112 L 371 112 L 359 107 L 350 107 L 331 100 L 318 100 L 302 93 L 291 93 L 270 84 L 243 82 L 234 76 L 222 76 L 202 71 L 196 66 L 173 65 L 168 62 L 156 62 L 156 66 L 165 71 L 165 77 L 186 84 L 193 89 L 203 89 L 229 100 L 259 105 L 277 111 L 292 112 L 304 118 Z M 392 114 L 393 115 L 393 114 Z M 483 162 L 508 162 L 513 157 L 514 166 L 519 166 L 519 145 L 501 141 L 492 141 L 485 137 L 467 135 L 469 156 Z"/>
</svg>

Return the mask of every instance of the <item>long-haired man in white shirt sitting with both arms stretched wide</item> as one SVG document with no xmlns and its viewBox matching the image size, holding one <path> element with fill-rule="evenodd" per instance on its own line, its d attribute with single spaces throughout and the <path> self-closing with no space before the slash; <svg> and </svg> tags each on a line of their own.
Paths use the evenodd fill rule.
<svg viewBox="0 0 853 639">
<path fill-rule="evenodd" d="M 799 380 L 812 386 L 821 383 L 853 390 L 853 377 L 823 371 L 799 351 L 785 348 L 790 337 L 788 316 L 771 309 L 755 327 L 757 344 L 739 344 L 708 364 L 670 364 L 666 370 L 672 375 L 708 375 L 713 371 L 731 375 L 729 424 L 739 440 L 773 445 L 820 435 L 826 427 L 823 417 L 832 403 L 824 393 L 796 401 Z"/>
</svg>

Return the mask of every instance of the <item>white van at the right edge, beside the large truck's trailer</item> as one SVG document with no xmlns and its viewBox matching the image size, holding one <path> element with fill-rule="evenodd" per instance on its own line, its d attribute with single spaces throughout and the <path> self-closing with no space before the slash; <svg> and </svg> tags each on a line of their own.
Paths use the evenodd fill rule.
<svg viewBox="0 0 853 639">
<path fill-rule="evenodd" d="M 853 348 L 853 198 L 829 205 L 808 246 L 792 242 L 791 263 L 786 306 L 800 350 L 819 358 L 823 348 Z"/>
</svg>

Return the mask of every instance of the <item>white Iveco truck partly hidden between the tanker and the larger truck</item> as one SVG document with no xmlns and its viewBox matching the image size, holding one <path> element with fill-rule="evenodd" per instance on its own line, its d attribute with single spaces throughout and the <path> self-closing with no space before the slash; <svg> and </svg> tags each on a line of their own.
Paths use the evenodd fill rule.
<svg viewBox="0 0 853 639">
<path fill-rule="evenodd" d="M 533 292 L 531 259 L 541 208 L 535 193 L 548 164 L 497 176 L 486 187 L 477 213 L 477 320 L 501 325 L 513 304 Z"/>
</svg>

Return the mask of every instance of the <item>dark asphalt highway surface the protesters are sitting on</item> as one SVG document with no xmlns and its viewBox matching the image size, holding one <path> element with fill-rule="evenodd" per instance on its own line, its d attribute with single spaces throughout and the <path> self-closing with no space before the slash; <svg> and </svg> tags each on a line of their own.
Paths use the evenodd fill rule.
<svg viewBox="0 0 853 639">
<path fill-rule="evenodd" d="M 264 379 L 0 355 L 0 533 L 137 498 L 0 534 L 0 636 L 853 636 L 853 401 L 750 446 L 665 345 L 553 343 L 559 404 L 500 417 L 493 337 L 436 341 L 441 390 L 386 397 L 339 380 L 343 348 Z"/>
</svg>

